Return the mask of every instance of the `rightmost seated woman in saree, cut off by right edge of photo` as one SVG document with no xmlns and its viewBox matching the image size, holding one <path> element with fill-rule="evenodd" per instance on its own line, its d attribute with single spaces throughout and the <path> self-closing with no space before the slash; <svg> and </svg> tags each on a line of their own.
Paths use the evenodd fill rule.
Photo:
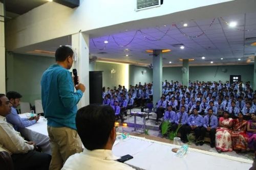
<svg viewBox="0 0 256 170">
<path fill-rule="evenodd" d="M 247 123 L 248 148 L 256 151 L 256 114 L 251 113 L 251 120 Z"/>
</svg>

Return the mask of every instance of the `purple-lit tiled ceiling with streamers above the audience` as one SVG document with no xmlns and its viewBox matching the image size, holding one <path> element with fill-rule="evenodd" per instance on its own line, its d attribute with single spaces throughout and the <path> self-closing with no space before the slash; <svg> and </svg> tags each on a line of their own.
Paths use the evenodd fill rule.
<svg viewBox="0 0 256 170">
<path fill-rule="evenodd" d="M 231 28 L 230 21 L 237 21 L 237 26 Z M 195 59 L 191 64 L 237 63 L 238 59 L 246 63 L 256 53 L 256 46 L 246 41 L 246 38 L 256 37 L 256 13 L 189 20 L 187 27 L 183 23 L 91 38 L 90 53 L 99 58 L 151 63 L 152 57 L 145 50 L 170 49 L 171 52 L 163 54 L 165 65 L 170 61 L 171 65 L 180 65 L 179 59 Z M 105 44 L 105 40 L 109 43 Z M 181 50 L 178 44 L 184 44 L 185 48 Z"/>
</svg>

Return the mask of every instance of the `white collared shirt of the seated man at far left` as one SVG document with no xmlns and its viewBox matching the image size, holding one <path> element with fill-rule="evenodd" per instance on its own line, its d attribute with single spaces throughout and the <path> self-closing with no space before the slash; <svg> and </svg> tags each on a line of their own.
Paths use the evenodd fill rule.
<svg viewBox="0 0 256 170">
<path fill-rule="evenodd" d="M 0 115 L 0 147 L 8 151 L 9 154 L 28 153 L 34 150 L 34 146 L 25 143 L 26 140 L 15 131 L 6 118 Z"/>
</svg>

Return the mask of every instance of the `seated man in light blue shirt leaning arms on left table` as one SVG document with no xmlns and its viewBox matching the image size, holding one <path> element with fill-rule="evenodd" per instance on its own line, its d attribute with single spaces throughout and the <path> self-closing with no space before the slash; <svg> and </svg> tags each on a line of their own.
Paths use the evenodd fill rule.
<svg viewBox="0 0 256 170">
<path fill-rule="evenodd" d="M 38 121 L 40 117 L 39 115 L 30 118 L 21 118 L 18 115 L 17 107 L 20 105 L 20 98 L 22 98 L 22 95 L 16 91 L 9 91 L 6 93 L 6 96 L 12 104 L 11 113 L 6 115 L 6 120 L 8 123 L 12 124 L 15 131 L 18 131 L 19 128 L 34 125 Z"/>
</svg>

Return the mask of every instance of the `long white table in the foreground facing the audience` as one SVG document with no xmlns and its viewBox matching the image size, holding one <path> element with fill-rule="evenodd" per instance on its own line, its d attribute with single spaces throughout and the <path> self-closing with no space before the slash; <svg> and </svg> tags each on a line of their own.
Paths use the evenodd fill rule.
<svg viewBox="0 0 256 170">
<path fill-rule="evenodd" d="M 184 158 L 178 158 L 171 151 L 175 147 L 173 144 L 131 136 L 116 144 L 113 153 L 116 156 L 132 155 L 134 158 L 125 163 L 136 169 L 242 170 L 252 166 L 252 161 L 247 159 L 192 148 Z"/>
</svg>

